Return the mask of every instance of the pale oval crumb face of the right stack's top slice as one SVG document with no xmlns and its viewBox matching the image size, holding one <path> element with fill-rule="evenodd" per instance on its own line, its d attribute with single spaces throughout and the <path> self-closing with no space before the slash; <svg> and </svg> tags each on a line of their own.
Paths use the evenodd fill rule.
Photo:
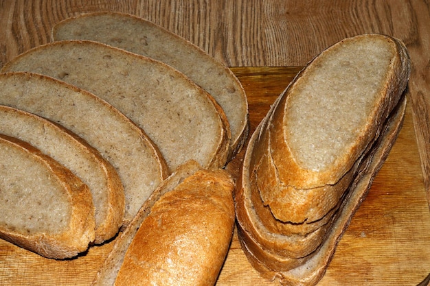
<svg viewBox="0 0 430 286">
<path fill-rule="evenodd" d="M 357 142 L 395 52 L 384 38 L 371 37 L 347 41 L 315 60 L 285 107 L 284 136 L 299 165 L 324 169 Z"/>
</svg>

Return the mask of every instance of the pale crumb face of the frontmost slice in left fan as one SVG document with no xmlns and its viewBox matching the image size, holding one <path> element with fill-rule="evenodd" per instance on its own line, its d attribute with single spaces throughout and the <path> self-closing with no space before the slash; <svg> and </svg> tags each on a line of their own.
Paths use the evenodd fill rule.
<svg viewBox="0 0 430 286">
<path fill-rule="evenodd" d="M 47 167 L 0 144 L 0 228 L 16 233 L 59 233 L 71 209 L 67 193 Z"/>
</svg>

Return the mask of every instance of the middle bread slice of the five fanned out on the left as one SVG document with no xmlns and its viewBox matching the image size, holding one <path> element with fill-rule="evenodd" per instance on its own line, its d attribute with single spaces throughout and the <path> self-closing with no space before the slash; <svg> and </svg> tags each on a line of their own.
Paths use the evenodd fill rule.
<svg viewBox="0 0 430 286">
<path fill-rule="evenodd" d="M 123 224 L 133 219 L 167 177 L 166 163 L 144 132 L 87 91 L 45 75 L 3 73 L 0 95 L 0 104 L 32 112 L 71 130 L 115 167 L 124 186 Z"/>
</svg>

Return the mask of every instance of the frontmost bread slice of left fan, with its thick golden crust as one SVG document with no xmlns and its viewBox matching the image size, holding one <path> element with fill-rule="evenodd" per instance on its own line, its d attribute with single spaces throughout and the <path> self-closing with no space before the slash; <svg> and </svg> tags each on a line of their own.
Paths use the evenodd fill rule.
<svg viewBox="0 0 430 286">
<path fill-rule="evenodd" d="M 31 145 L 0 135 L 0 237 L 64 259 L 95 237 L 91 193 L 71 171 Z"/>
</svg>

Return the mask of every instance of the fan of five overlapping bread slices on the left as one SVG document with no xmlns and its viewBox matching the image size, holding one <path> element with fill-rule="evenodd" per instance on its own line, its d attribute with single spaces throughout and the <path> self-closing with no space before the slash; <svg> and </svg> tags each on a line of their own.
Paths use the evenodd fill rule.
<svg viewBox="0 0 430 286">
<path fill-rule="evenodd" d="M 1 69 L 0 237 L 64 259 L 126 229 L 177 169 L 222 169 L 249 123 L 233 73 L 157 25 L 96 13 L 54 31 Z"/>
</svg>

